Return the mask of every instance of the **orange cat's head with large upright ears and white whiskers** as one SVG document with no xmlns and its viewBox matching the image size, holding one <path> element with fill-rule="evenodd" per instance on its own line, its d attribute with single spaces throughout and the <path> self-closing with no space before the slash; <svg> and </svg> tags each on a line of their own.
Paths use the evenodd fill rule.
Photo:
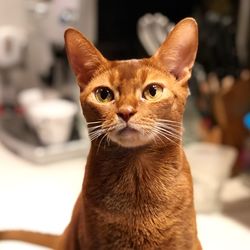
<svg viewBox="0 0 250 250">
<path fill-rule="evenodd" d="M 194 19 L 179 22 L 147 59 L 109 61 L 74 29 L 65 44 L 92 141 L 178 143 L 198 46 Z"/>
</svg>

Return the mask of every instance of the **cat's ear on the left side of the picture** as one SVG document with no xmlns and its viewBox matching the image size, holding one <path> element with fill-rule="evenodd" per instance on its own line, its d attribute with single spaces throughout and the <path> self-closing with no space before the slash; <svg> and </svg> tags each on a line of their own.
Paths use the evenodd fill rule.
<svg viewBox="0 0 250 250">
<path fill-rule="evenodd" d="M 69 63 L 82 90 L 107 60 L 79 31 L 69 28 L 64 38 Z"/>
</svg>

